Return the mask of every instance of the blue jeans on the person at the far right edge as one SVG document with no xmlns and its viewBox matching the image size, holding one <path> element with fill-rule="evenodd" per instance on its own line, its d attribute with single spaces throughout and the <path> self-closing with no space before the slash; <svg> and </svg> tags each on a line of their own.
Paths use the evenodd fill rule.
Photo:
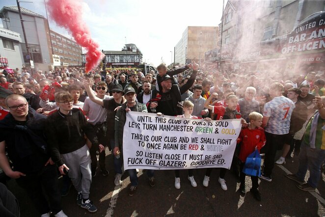
<svg viewBox="0 0 325 217">
<path fill-rule="evenodd" d="M 311 149 L 309 145 L 301 142 L 299 154 L 299 168 L 296 176 L 299 180 L 303 181 L 309 169 L 310 176 L 308 184 L 312 188 L 316 188 L 321 177 L 321 165 L 325 159 L 325 150 Z"/>
</svg>

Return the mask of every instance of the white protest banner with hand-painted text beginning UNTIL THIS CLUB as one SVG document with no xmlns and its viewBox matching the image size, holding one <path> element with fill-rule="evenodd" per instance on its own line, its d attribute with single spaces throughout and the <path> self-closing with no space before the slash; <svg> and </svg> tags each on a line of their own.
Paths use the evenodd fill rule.
<svg viewBox="0 0 325 217">
<path fill-rule="evenodd" d="M 208 122 L 129 111 L 124 169 L 230 169 L 241 127 L 240 119 Z"/>
</svg>

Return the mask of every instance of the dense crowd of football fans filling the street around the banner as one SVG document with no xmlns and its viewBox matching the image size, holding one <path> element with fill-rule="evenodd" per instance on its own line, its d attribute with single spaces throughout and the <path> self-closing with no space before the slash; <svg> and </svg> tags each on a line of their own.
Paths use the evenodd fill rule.
<svg viewBox="0 0 325 217">
<path fill-rule="evenodd" d="M 298 155 L 298 172 L 286 176 L 300 190 L 316 189 L 325 160 L 324 71 L 223 72 L 204 66 L 199 70 L 195 62 L 170 70 L 161 64 L 157 70 L 157 74 L 152 70 L 144 75 L 140 69 L 97 68 L 86 73 L 83 68 L 62 67 L 53 72 L 0 73 L 0 167 L 27 191 L 42 217 L 66 216 L 61 196 L 68 194 L 71 185 L 78 192 L 77 204 L 97 211 L 89 190 L 92 177 L 109 174 L 105 148 L 113 154 L 114 184 L 121 185 L 128 111 L 204 121 L 241 118 L 243 129 L 232 170 L 241 180 L 242 194 L 246 192 L 243 167 L 255 149 L 265 154 L 262 180 L 272 181 L 274 163 L 283 164 Z M 281 157 L 275 159 L 279 148 Z M 222 190 L 227 190 L 227 170 L 219 169 Z M 209 186 L 212 171 L 206 169 L 204 187 Z M 127 172 L 132 196 L 137 172 Z M 58 173 L 63 176 L 61 189 Z M 146 173 L 154 187 L 154 170 Z M 188 170 L 188 179 L 197 186 L 193 169 Z M 260 201 L 258 177 L 251 179 L 250 191 Z M 180 170 L 175 170 L 174 186 L 181 188 Z"/>
</svg>

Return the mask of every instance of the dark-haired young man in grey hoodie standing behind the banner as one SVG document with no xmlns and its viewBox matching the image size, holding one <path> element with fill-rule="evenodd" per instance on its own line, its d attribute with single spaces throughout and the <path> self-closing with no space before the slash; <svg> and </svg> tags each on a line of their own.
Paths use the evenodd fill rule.
<svg viewBox="0 0 325 217">
<path fill-rule="evenodd" d="M 202 90 L 203 87 L 201 84 L 195 84 L 193 87 L 193 94 L 185 99 L 185 101 L 188 100 L 194 104 L 192 115 L 197 117 L 207 116 L 209 114 L 209 110 L 204 108 L 206 99 L 201 96 Z"/>
</svg>

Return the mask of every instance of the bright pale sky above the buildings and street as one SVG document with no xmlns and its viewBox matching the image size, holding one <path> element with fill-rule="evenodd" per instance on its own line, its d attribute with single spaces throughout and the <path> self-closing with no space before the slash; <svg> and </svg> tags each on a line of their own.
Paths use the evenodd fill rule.
<svg viewBox="0 0 325 217">
<path fill-rule="evenodd" d="M 46 17 L 44 0 L 22 0 L 21 7 Z M 143 61 L 158 66 L 174 61 L 174 47 L 188 26 L 218 26 L 222 0 L 79 0 L 83 20 L 91 37 L 104 51 L 121 51 L 135 44 Z M 226 4 L 227 0 L 225 0 Z M 3 6 L 17 6 L 16 0 L 1 0 Z M 49 19 L 50 28 L 68 36 L 68 30 Z M 2 24 L 0 24 L 2 25 Z M 69 36 L 70 37 L 70 36 Z M 172 53 L 170 52 L 172 51 Z"/>
</svg>

